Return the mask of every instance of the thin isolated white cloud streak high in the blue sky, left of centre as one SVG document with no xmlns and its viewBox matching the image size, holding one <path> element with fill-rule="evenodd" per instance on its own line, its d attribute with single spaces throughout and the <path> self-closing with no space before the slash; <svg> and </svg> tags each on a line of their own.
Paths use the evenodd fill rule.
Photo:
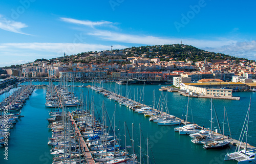
<svg viewBox="0 0 256 164">
<path fill-rule="evenodd" d="M 78 20 L 78 19 L 72 19 L 72 18 L 60 18 L 62 21 L 66 21 L 72 24 L 78 24 L 78 25 L 86 25 L 86 26 L 102 26 L 102 25 L 111 25 L 113 24 L 113 22 L 111 21 L 105 21 L 105 20 L 101 20 L 101 21 L 90 21 L 90 20 Z"/>
</svg>

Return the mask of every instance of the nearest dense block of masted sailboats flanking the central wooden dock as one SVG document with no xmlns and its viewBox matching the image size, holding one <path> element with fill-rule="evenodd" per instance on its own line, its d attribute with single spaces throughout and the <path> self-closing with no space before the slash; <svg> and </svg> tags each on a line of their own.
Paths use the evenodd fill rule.
<svg viewBox="0 0 256 164">
<path fill-rule="evenodd" d="M 55 86 L 50 84 L 48 91 L 50 87 Z M 55 96 L 59 98 L 58 94 Z M 49 138 L 48 145 L 52 146 L 53 163 L 92 163 L 90 160 L 96 163 L 138 162 L 134 151 L 133 135 L 131 138 L 133 146 L 126 146 L 125 129 L 125 146 L 121 147 L 120 134 L 118 134 L 119 137 L 116 136 L 115 121 L 110 121 L 104 102 L 102 102 L 101 113 L 98 114 L 99 119 L 96 119 L 97 114 L 95 114 L 94 103 L 91 103 L 91 105 L 89 103 L 88 105 L 85 102 L 86 105 L 84 105 L 83 96 L 81 96 L 80 101 L 81 103 L 77 105 L 77 109 L 72 113 L 66 112 L 65 106 L 61 111 L 56 107 L 54 108 L 55 111 L 50 112 L 48 122 L 50 124 L 49 128 L 52 130 L 52 137 Z M 110 125 L 107 123 L 108 119 Z M 124 123 L 124 127 L 127 127 L 126 123 Z M 132 148 L 132 154 L 128 151 L 130 148 Z M 89 154 L 87 154 L 88 152 Z M 149 158 L 149 155 L 147 157 Z"/>
</svg>

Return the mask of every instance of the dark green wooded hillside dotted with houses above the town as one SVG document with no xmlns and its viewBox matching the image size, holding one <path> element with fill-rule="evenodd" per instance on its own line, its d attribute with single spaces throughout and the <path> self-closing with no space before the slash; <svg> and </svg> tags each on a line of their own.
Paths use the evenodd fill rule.
<svg viewBox="0 0 256 164">
<path fill-rule="evenodd" d="M 98 56 L 95 56 L 95 54 L 100 54 Z M 108 53 L 108 55 L 105 55 L 105 53 Z M 112 53 L 119 53 L 122 55 L 110 55 Z M 103 54 L 103 55 L 102 55 Z M 110 58 L 119 58 L 119 59 L 125 59 L 127 57 L 134 57 L 134 56 L 141 56 L 141 57 L 147 57 L 147 58 L 160 58 L 161 61 L 169 61 L 170 58 L 173 58 L 173 60 L 177 61 L 185 61 L 186 59 L 192 60 L 194 62 L 197 61 L 204 61 L 205 58 L 208 62 L 211 62 L 212 59 L 226 59 L 226 60 L 236 60 L 238 63 L 239 60 L 246 60 L 250 61 L 245 58 L 237 58 L 230 55 L 225 55 L 222 53 L 214 53 L 214 52 L 208 52 L 205 50 L 201 50 L 196 48 L 192 45 L 185 45 L 185 44 L 165 44 L 165 45 L 147 45 L 147 46 L 139 46 L 132 48 L 126 48 L 123 50 L 113 50 L 113 52 L 106 50 L 101 52 L 82 52 L 75 55 L 70 56 L 62 56 L 58 58 L 53 59 L 37 59 L 34 61 L 36 62 L 49 62 L 52 63 L 55 60 L 58 60 L 63 63 L 106 63 L 108 62 L 108 59 Z M 251 61 L 250 61 L 251 62 Z M 127 62 L 120 62 L 121 64 L 125 64 Z M 36 64 L 35 64 L 36 65 Z M 12 65 L 9 67 L 4 68 L 18 68 L 20 65 Z"/>
</svg>

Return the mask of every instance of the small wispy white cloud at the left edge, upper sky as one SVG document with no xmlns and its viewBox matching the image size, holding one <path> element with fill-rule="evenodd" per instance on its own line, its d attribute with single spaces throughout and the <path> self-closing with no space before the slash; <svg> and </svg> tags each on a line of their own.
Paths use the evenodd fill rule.
<svg viewBox="0 0 256 164">
<path fill-rule="evenodd" d="M 28 26 L 22 22 L 8 20 L 3 15 L 0 15 L 0 29 L 2 29 L 2 30 L 29 35 L 29 34 L 23 33 L 21 31 L 21 29 L 26 28 L 26 27 L 28 27 Z"/>
</svg>

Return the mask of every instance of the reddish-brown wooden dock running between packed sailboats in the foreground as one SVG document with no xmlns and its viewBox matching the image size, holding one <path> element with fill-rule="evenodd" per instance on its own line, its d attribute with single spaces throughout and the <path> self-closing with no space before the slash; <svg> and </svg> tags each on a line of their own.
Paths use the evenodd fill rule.
<svg viewBox="0 0 256 164">
<path fill-rule="evenodd" d="M 87 163 L 96 164 L 96 162 L 94 161 L 88 146 L 86 145 L 86 142 L 84 142 L 84 139 L 83 139 L 83 137 L 82 137 L 82 135 L 80 133 L 80 130 L 77 128 L 77 125 L 76 125 L 76 123 L 75 123 L 75 121 L 73 119 L 72 114 L 70 112 L 68 114 L 69 114 L 70 120 L 72 122 L 72 125 L 74 126 L 75 136 L 76 136 L 77 140 L 80 142 L 80 146 L 82 148 L 81 150 L 82 150 L 83 156 L 86 158 Z"/>
</svg>

